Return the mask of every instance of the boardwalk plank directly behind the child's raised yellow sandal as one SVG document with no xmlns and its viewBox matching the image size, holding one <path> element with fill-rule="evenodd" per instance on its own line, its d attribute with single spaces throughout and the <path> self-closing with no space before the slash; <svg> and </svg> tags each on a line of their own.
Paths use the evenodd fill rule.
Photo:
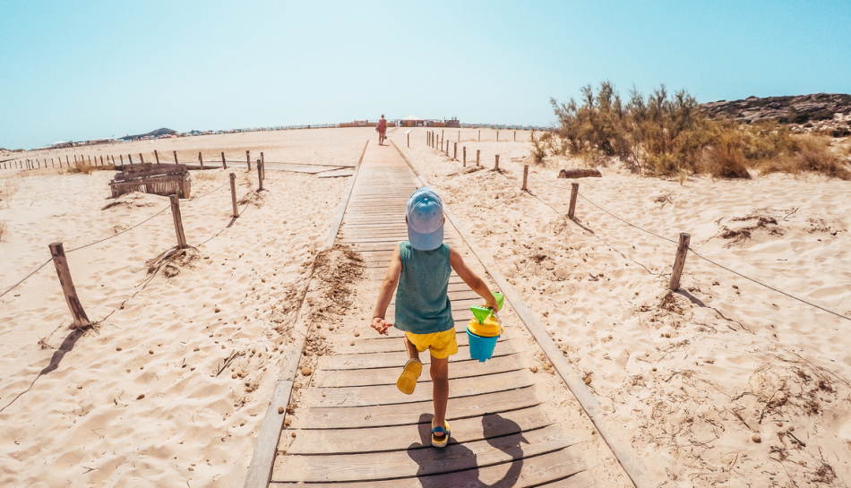
<svg viewBox="0 0 851 488">
<path fill-rule="evenodd" d="M 466 334 L 465 334 L 466 336 Z M 399 341 L 401 342 L 401 341 Z M 482 374 L 493 374 L 496 372 L 512 372 L 523 369 L 520 356 L 503 355 L 491 358 L 485 363 L 478 361 L 453 362 L 449 366 L 450 380 L 460 378 L 472 378 Z M 395 385 L 401 365 L 389 368 L 376 368 L 371 370 L 335 370 L 325 371 L 319 369 L 314 372 L 311 388 L 352 388 L 358 386 Z M 432 380 L 428 374 L 428 368 L 423 368 L 417 384 L 431 384 Z M 417 388 L 422 388 L 418 386 Z M 431 388 L 431 387 L 426 387 Z"/>
</svg>

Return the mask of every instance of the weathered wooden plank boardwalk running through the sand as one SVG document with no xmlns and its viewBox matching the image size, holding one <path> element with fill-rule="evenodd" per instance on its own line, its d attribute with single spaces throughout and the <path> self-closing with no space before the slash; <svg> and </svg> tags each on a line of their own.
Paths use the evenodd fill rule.
<svg viewBox="0 0 851 488">
<path fill-rule="evenodd" d="M 383 278 L 394 246 L 407 239 L 405 204 L 419 181 L 391 146 L 370 144 L 358 169 L 338 241 L 365 258 L 367 278 Z M 446 222 L 446 241 L 465 248 Z M 377 286 L 371 287 L 377 293 Z M 269 486 L 585 487 L 594 485 L 576 439 L 547 415 L 534 375 L 511 339 L 494 358 L 469 359 L 469 306 L 481 299 L 452 274 L 450 297 L 460 351 L 451 357 L 449 446 L 431 447 L 431 381 L 426 366 L 413 395 L 396 389 L 407 359 L 401 334 L 358 338 L 345 354 L 319 358 L 292 424 L 280 435 Z M 376 296 L 367 297 L 374 304 Z M 388 310 L 392 320 L 393 305 Z M 295 433 L 295 437 L 293 436 Z"/>
</svg>

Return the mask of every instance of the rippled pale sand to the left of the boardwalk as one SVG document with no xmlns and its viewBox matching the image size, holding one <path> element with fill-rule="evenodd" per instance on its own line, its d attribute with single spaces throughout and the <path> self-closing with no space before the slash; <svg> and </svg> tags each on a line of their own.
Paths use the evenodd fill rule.
<svg viewBox="0 0 851 488">
<path fill-rule="evenodd" d="M 256 141 L 282 158 L 348 164 L 368 137 L 357 129 L 331 144 L 309 131 L 239 135 L 232 146 Z M 132 193 L 104 209 L 112 174 L 0 173 L 0 185 L 17 188 L 0 210 L 8 228 L 0 288 L 46 261 L 51 242 L 68 250 L 168 207 L 166 197 Z M 254 174 L 237 174 L 239 196 L 256 189 Z M 193 195 L 202 195 L 228 174 L 193 172 L 193 180 Z M 150 277 L 146 265 L 176 244 L 168 210 L 68 253 L 81 302 L 99 322 L 82 337 L 68 330 L 52 263 L 0 299 L 0 485 L 241 485 L 288 345 L 274 309 L 304 281 L 347 184 L 270 170 L 269 191 L 240 205 L 232 225 L 227 185 L 181 201 L 195 260 L 172 278 Z M 55 371 L 39 374 L 52 360 Z"/>
</svg>

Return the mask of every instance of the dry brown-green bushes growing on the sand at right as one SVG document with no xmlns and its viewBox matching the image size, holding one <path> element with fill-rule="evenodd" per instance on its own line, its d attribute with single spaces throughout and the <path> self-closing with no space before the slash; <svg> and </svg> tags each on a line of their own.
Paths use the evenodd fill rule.
<svg viewBox="0 0 851 488">
<path fill-rule="evenodd" d="M 570 155 L 589 166 L 614 159 L 642 175 L 681 181 L 691 174 L 750 178 L 751 170 L 851 179 L 844 146 L 831 147 L 831 138 L 794 134 L 779 121 L 713 119 L 686 90 L 669 94 L 662 85 L 647 97 L 631 90 L 624 103 L 604 81 L 597 91 L 585 86 L 579 102 L 551 103 L 559 127 L 537 134 L 531 158 L 538 162 L 547 155 Z"/>
</svg>

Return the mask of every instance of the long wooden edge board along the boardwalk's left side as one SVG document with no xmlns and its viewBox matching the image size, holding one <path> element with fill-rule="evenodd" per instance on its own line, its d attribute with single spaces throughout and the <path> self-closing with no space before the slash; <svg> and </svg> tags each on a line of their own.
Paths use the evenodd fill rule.
<svg viewBox="0 0 851 488">
<path fill-rule="evenodd" d="M 330 249 L 334 245 L 334 240 L 340 231 L 340 224 L 342 224 L 343 215 L 346 213 L 348 200 L 351 198 L 352 189 L 355 187 L 357 174 L 360 172 L 360 164 L 364 160 L 367 146 L 369 146 L 369 140 L 364 144 L 364 150 L 361 151 L 360 159 L 358 159 L 357 166 L 355 167 L 355 175 L 348 182 L 348 189 L 340 200 L 340 207 L 328 231 L 328 238 L 325 240 L 325 249 Z M 307 283 L 307 287 L 308 289 L 310 288 L 309 282 Z M 304 303 L 301 307 L 304 307 Z M 296 321 L 301 317 L 301 307 L 299 307 Z M 295 334 L 296 331 L 294 330 L 293 332 Z M 275 467 L 275 457 L 278 454 L 280 434 L 283 432 L 284 420 L 287 417 L 286 410 L 283 414 L 278 413 L 278 407 L 286 408 L 289 405 L 289 398 L 293 392 L 293 382 L 296 376 L 298 362 L 301 359 L 301 351 L 305 347 L 307 332 L 305 330 L 304 333 L 298 334 L 298 338 L 293 343 L 292 349 L 284 355 L 284 361 L 281 365 L 278 381 L 275 384 L 275 390 L 272 392 L 269 407 L 266 408 L 266 415 L 263 416 L 260 431 L 257 433 L 257 442 L 254 444 L 251 464 L 248 465 L 248 474 L 245 476 L 245 488 L 266 488 L 271 481 L 272 469 Z"/>
</svg>

